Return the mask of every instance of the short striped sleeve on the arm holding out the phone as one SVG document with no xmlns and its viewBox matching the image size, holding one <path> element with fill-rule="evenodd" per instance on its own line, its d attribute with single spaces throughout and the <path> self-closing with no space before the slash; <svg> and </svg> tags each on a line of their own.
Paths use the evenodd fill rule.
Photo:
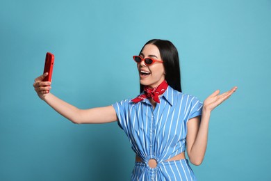
<svg viewBox="0 0 271 181">
<path fill-rule="evenodd" d="M 112 104 L 114 107 L 116 113 L 117 113 L 117 124 L 120 126 L 120 128 L 124 129 L 126 127 L 126 122 L 128 118 L 128 105 L 129 100 L 122 100 L 121 102 L 116 102 L 115 104 Z"/>
</svg>

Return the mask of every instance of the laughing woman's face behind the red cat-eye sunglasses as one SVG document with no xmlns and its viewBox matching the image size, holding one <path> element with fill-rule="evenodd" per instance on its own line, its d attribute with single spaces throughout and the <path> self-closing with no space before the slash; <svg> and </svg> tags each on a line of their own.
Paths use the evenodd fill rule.
<svg viewBox="0 0 271 181">
<path fill-rule="evenodd" d="M 142 52 L 140 53 L 140 56 L 142 58 L 153 58 L 159 61 L 163 61 L 160 56 L 159 49 L 156 47 L 156 45 L 147 44 L 142 49 Z M 143 86 L 149 86 L 151 88 L 154 88 L 162 83 L 163 80 L 165 80 L 165 68 L 163 63 L 161 62 L 155 62 L 152 65 L 145 65 L 144 61 L 141 61 L 141 63 L 138 63 L 138 72 L 140 77 L 140 84 Z"/>
</svg>

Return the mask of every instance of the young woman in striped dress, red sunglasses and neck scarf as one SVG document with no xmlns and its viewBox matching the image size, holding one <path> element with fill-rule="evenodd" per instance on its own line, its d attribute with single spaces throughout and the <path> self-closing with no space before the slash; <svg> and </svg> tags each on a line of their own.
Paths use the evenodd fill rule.
<svg viewBox="0 0 271 181">
<path fill-rule="evenodd" d="M 87 110 L 58 99 L 49 93 L 51 83 L 33 84 L 38 96 L 73 123 L 117 121 L 128 136 L 136 163 L 131 180 L 196 180 L 188 164 L 204 159 L 211 111 L 236 91 L 219 95 L 215 91 L 204 103 L 181 93 L 179 56 L 168 40 L 149 40 L 139 56 L 133 56 L 140 77 L 140 95 L 108 107 Z"/>
</svg>

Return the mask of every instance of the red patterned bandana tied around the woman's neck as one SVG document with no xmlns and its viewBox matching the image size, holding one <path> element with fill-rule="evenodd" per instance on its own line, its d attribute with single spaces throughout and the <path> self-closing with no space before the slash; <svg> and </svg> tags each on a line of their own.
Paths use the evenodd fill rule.
<svg viewBox="0 0 271 181">
<path fill-rule="evenodd" d="M 167 81 L 165 80 L 159 86 L 155 88 L 149 88 L 148 86 L 145 86 L 144 87 L 145 94 L 139 95 L 138 97 L 134 98 L 132 101 L 137 103 L 144 100 L 145 98 L 151 97 L 155 102 L 160 103 L 158 96 L 165 93 L 165 90 L 167 90 L 167 86 L 168 84 L 167 84 Z"/>
</svg>

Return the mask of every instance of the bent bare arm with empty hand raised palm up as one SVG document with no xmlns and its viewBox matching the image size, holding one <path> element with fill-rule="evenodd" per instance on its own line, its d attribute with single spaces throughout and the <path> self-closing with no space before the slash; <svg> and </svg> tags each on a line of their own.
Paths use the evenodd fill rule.
<svg viewBox="0 0 271 181">
<path fill-rule="evenodd" d="M 222 102 L 227 100 L 237 87 L 232 88 L 226 93 L 218 95 L 220 91 L 215 91 L 204 100 L 202 109 L 202 118 L 197 116 L 188 120 L 188 133 L 186 136 L 187 153 L 190 162 L 195 165 L 202 164 L 207 147 L 208 125 L 211 116 L 211 111 Z"/>
</svg>

